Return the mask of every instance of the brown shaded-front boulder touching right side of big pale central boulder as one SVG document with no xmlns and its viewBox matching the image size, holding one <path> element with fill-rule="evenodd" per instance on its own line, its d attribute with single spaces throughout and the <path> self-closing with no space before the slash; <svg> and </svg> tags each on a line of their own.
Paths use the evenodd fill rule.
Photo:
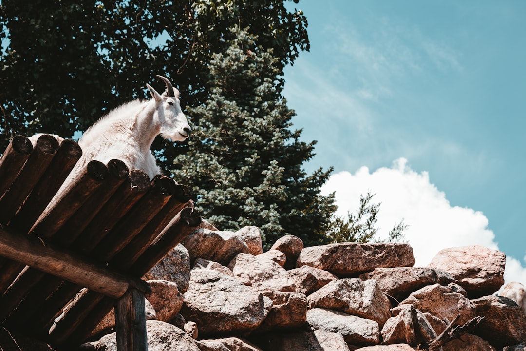
<svg viewBox="0 0 526 351">
<path fill-rule="evenodd" d="M 307 297 L 304 294 L 284 293 L 277 290 L 267 290 L 262 294 L 272 300 L 272 308 L 255 333 L 300 327 L 305 324 Z"/>
</svg>

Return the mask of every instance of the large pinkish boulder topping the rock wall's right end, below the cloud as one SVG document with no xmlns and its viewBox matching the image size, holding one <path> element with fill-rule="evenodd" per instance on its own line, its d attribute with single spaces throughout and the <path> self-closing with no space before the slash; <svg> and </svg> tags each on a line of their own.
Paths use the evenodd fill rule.
<svg viewBox="0 0 526 351">
<path fill-rule="evenodd" d="M 455 282 L 468 292 L 468 297 L 491 295 L 504 284 L 506 255 L 480 245 L 451 247 L 440 250 L 428 268 L 450 273 Z"/>
</svg>

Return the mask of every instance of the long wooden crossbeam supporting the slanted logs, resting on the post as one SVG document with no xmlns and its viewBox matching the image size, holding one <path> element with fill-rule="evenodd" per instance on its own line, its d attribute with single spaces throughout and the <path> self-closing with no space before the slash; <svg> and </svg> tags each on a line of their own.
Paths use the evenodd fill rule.
<svg viewBox="0 0 526 351">
<path fill-rule="evenodd" d="M 3 228 L 0 228 L 0 255 L 113 298 L 122 296 L 129 285 L 129 278 L 37 238 L 15 235 Z"/>
</svg>

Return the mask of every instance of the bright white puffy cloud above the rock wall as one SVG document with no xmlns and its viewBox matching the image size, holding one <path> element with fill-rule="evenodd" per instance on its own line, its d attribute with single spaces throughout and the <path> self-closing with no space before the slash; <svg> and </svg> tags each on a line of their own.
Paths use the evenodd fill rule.
<svg viewBox="0 0 526 351">
<path fill-rule="evenodd" d="M 338 215 L 354 212 L 361 194 L 375 193 L 373 202 L 381 203 L 378 219 L 380 236 L 403 218 L 409 228 L 404 232 L 413 247 L 416 265 L 425 266 L 440 249 L 483 245 L 498 249 L 494 233 L 488 229 L 488 218 L 482 212 L 452 206 L 446 194 L 429 181 L 427 172 L 413 171 L 407 160 L 399 158 L 392 167 L 369 172 L 361 167 L 355 174 L 340 172 L 330 177 L 322 194 L 336 192 Z M 526 268 L 519 260 L 508 257 L 505 269 L 507 282 L 526 283 Z"/>
</svg>

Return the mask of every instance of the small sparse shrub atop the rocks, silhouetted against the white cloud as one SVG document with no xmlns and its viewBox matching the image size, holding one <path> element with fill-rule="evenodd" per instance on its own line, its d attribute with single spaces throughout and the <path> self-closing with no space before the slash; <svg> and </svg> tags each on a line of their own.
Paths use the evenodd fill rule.
<svg viewBox="0 0 526 351">
<path fill-rule="evenodd" d="M 403 231 L 408 225 L 404 224 L 403 219 L 389 230 L 387 239 L 378 238 L 377 222 L 380 212 L 380 203 L 371 203 L 373 196 L 370 191 L 367 195 L 360 196 L 360 206 L 356 213 L 348 213 L 345 216 L 333 216 L 327 229 L 327 236 L 332 243 L 343 242 L 402 242 L 404 240 Z"/>
</svg>

